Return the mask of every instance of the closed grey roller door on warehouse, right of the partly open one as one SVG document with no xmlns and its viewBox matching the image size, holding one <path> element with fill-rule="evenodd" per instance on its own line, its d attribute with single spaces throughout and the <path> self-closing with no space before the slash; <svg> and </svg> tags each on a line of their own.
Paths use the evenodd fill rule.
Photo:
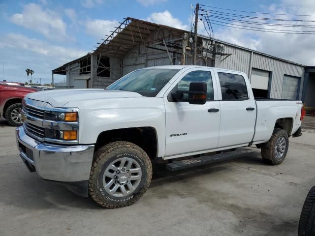
<svg viewBox="0 0 315 236">
<path fill-rule="evenodd" d="M 299 90 L 299 77 L 284 75 L 284 83 L 282 85 L 282 96 L 283 99 L 297 99 Z"/>
</svg>

